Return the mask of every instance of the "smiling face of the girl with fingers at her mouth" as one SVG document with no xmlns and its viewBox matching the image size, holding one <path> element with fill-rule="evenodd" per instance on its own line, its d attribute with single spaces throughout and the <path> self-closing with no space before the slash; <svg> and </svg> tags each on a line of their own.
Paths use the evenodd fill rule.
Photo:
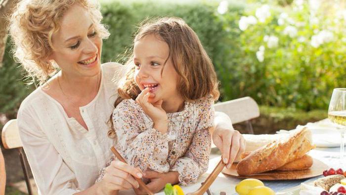
<svg viewBox="0 0 346 195">
<path fill-rule="evenodd" d="M 166 61 L 167 60 L 167 61 Z M 149 87 L 155 97 L 150 102 L 181 100 L 177 90 L 178 74 L 171 58 L 168 44 L 150 34 L 134 43 L 133 62 L 136 65 L 135 82 L 140 90 Z"/>
</svg>

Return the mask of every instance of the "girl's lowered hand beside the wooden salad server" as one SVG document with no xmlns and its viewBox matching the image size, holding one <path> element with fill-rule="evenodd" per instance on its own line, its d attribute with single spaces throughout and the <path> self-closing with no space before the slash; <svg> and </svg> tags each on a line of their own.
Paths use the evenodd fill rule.
<svg viewBox="0 0 346 195">
<path fill-rule="evenodd" d="M 146 186 L 153 193 L 158 193 L 165 188 L 167 183 L 172 185 L 179 183 L 179 174 L 176 171 L 170 171 L 168 173 L 159 173 L 156 171 L 146 171 L 143 173 L 143 177 L 150 179 L 150 183 Z M 142 189 L 134 189 L 137 195 L 146 195 L 147 193 Z"/>
</svg>

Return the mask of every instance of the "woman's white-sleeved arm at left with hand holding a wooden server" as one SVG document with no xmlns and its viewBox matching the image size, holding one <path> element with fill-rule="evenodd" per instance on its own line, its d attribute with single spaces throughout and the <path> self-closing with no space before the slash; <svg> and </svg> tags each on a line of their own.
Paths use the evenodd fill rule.
<svg viewBox="0 0 346 195">
<path fill-rule="evenodd" d="M 113 177 L 82 191 L 78 186 L 75 174 L 35 123 L 33 117 L 23 110 L 19 111 L 18 128 L 30 168 L 41 194 L 110 195 L 116 190 L 129 189 L 129 186 L 138 187 L 138 183 L 130 175 L 140 178 L 137 176 L 140 171 L 119 162 L 108 170 Z M 90 175 L 90 177 L 93 176 Z"/>
</svg>

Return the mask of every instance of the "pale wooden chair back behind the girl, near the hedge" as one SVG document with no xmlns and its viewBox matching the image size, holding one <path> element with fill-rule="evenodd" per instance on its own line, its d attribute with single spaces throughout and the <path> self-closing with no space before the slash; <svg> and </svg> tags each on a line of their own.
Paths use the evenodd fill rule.
<svg viewBox="0 0 346 195">
<path fill-rule="evenodd" d="M 247 122 L 248 131 L 254 134 L 251 119 L 259 117 L 259 106 L 253 98 L 245 97 L 216 103 L 215 111 L 226 113 L 232 124 Z"/>
</svg>

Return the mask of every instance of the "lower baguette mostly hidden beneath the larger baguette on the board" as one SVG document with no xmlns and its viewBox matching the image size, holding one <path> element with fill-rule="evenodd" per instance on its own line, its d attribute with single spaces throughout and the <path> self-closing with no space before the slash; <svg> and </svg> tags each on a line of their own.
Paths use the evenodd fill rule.
<svg viewBox="0 0 346 195">
<path fill-rule="evenodd" d="M 245 158 L 248 156 L 251 152 L 244 152 L 242 153 L 242 158 Z M 297 171 L 297 170 L 304 170 L 308 169 L 312 166 L 313 159 L 311 156 L 304 154 L 303 157 L 298 158 L 296 160 L 293 160 L 292 162 L 289 162 L 287 164 L 284 164 L 284 166 L 279 167 L 275 169 L 276 171 Z"/>
</svg>

